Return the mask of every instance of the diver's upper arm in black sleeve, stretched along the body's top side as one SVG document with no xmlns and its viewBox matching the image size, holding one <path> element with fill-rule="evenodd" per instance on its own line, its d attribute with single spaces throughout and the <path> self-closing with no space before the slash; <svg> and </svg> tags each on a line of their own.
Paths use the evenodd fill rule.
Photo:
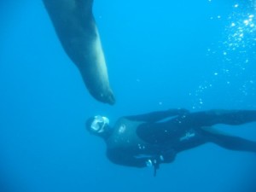
<svg viewBox="0 0 256 192">
<path fill-rule="evenodd" d="M 139 115 L 125 116 L 126 119 L 135 121 L 157 122 L 161 119 L 166 119 L 175 115 L 189 113 L 189 110 L 183 108 L 168 109 L 166 111 L 156 111 Z"/>
</svg>

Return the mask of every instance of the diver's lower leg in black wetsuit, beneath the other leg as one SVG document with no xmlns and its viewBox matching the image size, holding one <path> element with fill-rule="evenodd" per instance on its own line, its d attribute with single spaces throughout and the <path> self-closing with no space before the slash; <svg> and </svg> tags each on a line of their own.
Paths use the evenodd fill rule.
<svg viewBox="0 0 256 192">
<path fill-rule="evenodd" d="M 256 153 L 256 142 L 241 137 L 230 136 L 224 132 L 214 130 L 212 127 L 201 128 L 201 135 L 208 142 L 215 143 L 223 148 Z"/>
</svg>

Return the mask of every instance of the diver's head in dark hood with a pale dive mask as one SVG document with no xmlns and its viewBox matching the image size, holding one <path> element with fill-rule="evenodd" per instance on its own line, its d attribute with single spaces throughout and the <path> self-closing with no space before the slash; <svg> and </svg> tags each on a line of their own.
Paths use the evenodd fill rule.
<svg viewBox="0 0 256 192">
<path fill-rule="evenodd" d="M 86 121 L 86 129 L 96 136 L 107 137 L 111 129 L 109 119 L 101 115 L 91 117 Z"/>
</svg>

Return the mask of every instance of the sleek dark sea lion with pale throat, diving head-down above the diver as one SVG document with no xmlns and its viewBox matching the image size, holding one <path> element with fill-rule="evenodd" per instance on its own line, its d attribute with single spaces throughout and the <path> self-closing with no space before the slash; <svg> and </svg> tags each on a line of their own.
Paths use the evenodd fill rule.
<svg viewBox="0 0 256 192">
<path fill-rule="evenodd" d="M 55 32 L 84 84 L 96 100 L 113 105 L 113 91 L 96 21 L 93 0 L 43 0 Z"/>
</svg>

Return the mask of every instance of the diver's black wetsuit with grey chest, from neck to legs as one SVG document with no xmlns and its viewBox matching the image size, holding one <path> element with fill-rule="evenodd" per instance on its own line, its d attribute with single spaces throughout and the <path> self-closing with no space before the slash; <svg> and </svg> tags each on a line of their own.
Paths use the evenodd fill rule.
<svg viewBox="0 0 256 192">
<path fill-rule="evenodd" d="M 108 159 L 123 166 L 170 163 L 183 150 L 216 143 L 232 150 L 256 152 L 256 143 L 214 130 L 217 124 L 256 121 L 256 110 L 210 110 L 189 113 L 172 109 L 120 118 L 106 139 Z"/>
</svg>

